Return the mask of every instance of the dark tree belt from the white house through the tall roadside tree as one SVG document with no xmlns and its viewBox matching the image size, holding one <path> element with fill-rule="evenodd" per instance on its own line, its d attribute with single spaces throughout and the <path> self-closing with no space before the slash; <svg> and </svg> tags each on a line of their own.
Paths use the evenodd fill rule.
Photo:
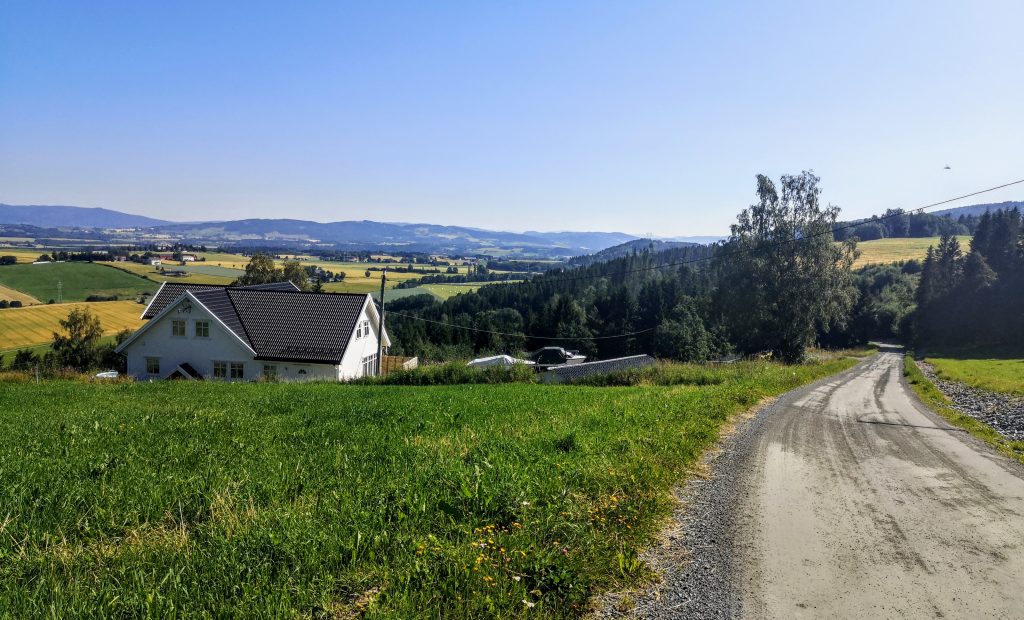
<svg viewBox="0 0 1024 620">
<path fill-rule="evenodd" d="M 839 208 L 820 204 L 818 183 L 810 172 L 778 184 L 759 176 L 757 203 L 721 245 L 637 251 L 443 302 L 398 299 L 388 304 L 392 353 L 447 360 L 560 344 L 601 359 L 799 361 L 857 299 L 856 241 L 834 243 Z"/>
</svg>

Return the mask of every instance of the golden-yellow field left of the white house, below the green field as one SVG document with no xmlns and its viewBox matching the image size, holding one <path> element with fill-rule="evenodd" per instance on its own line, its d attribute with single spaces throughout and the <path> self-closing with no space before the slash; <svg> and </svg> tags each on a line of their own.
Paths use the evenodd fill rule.
<svg viewBox="0 0 1024 620">
<path fill-rule="evenodd" d="M 60 330 L 59 321 L 74 307 L 87 307 L 99 318 L 104 334 L 122 329 L 138 329 L 143 305 L 134 301 L 97 301 L 94 303 L 53 303 L 31 307 L 0 309 L 0 352 L 47 343 Z"/>
</svg>

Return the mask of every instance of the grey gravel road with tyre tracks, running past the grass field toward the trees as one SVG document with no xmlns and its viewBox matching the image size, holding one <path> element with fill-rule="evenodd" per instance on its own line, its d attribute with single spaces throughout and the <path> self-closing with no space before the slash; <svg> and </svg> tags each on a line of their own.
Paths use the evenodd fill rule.
<svg viewBox="0 0 1024 620">
<path fill-rule="evenodd" d="M 927 410 L 895 348 L 740 425 L 681 491 L 644 618 L 1022 618 L 1024 468 Z"/>
</svg>

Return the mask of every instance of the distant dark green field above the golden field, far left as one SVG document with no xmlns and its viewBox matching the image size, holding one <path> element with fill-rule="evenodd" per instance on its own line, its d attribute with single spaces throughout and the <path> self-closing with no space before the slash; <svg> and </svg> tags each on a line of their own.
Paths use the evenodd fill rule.
<svg viewBox="0 0 1024 620">
<path fill-rule="evenodd" d="M 52 262 L 0 266 L 0 284 L 46 301 L 57 298 L 62 284 L 65 301 L 83 301 L 89 295 L 132 298 L 155 292 L 158 285 L 132 274 L 95 262 Z"/>
</svg>

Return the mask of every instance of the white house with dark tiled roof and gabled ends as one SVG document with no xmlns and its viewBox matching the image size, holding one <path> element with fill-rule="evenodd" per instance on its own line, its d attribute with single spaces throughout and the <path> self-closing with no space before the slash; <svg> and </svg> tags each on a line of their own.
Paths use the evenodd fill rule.
<svg viewBox="0 0 1024 620">
<path fill-rule="evenodd" d="M 379 318 L 369 294 L 165 282 L 117 350 L 141 379 L 340 381 L 377 373 Z"/>
</svg>

